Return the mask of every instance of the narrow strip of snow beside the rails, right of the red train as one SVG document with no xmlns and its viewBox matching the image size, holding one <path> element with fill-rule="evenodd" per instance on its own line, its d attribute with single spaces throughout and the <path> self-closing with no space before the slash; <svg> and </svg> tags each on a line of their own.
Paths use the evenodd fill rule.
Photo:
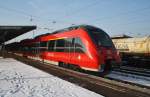
<svg viewBox="0 0 150 97">
<path fill-rule="evenodd" d="M 127 82 L 137 83 L 144 86 L 150 86 L 150 77 L 143 77 L 134 74 L 126 74 L 121 72 L 111 72 L 107 77 L 119 79 Z"/>
</svg>

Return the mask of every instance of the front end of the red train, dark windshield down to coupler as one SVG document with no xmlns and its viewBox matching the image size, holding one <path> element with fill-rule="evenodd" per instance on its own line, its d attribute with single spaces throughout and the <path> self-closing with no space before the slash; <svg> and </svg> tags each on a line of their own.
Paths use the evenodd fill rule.
<svg viewBox="0 0 150 97">
<path fill-rule="evenodd" d="M 109 35 L 96 27 L 87 27 L 87 32 L 99 56 L 99 72 L 109 72 L 112 68 L 119 67 L 121 59 Z"/>
</svg>

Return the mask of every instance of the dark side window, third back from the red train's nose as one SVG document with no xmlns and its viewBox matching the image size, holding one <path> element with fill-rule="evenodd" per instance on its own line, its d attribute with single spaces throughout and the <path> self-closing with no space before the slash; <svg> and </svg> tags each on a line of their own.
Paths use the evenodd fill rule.
<svg viewBox="0 0 150 97">
<path fill-rule="evenodd" d="M 65 47 L 65 40 L 64 39 L 56 40 L 56 51 L 57 52 L 64 52 L 64 47 Z"/>
</svg>

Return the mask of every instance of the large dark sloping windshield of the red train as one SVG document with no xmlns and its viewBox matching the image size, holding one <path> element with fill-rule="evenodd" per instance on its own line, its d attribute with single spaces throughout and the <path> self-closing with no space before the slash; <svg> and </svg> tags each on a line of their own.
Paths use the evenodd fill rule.
<svg viewBox="0 0 150 97">
<path fill-rule="evenodd" d="M 86 29 L 96 45 L 113 47 L 112 40 L 103 30 L 94 27 L 87 27 Z"/>
</svg>

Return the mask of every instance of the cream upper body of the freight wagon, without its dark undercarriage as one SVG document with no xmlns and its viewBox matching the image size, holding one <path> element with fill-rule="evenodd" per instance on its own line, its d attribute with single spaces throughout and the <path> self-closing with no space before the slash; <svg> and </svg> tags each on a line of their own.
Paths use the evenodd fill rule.
<svg viewBox="0 0 150 97">
<path fill-rule="evenodd" d="M 113 39 L 113 43 L 122 54 L 150 57 L 150 36 Z"/>
</svg>

